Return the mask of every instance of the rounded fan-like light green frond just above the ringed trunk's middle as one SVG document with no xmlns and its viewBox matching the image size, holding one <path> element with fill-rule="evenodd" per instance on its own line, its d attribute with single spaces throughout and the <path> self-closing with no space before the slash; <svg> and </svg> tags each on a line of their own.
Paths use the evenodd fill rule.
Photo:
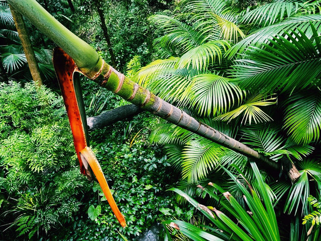
<svg viewBox="0 0 321 241">
<path fill-rule="evenodd" d="M 200 74 L 191 85 L 191 106 L 200 115 L 210 116 L 229 111 L 243 99 L 242 90 L 230 79 L 215 74 Z"/>
</svg>

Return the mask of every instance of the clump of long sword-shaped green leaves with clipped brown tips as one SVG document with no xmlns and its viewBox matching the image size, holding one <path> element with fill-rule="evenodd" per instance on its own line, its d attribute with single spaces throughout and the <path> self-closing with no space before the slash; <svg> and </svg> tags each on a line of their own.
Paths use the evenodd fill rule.
<svg viewBox="0 0 321 241">
<path fill-rule="evenodd" d="M 254 189 L 245 179 L 241 171 L 238 175 L 232 174 L 225 169 L 227 174 L 233 179 L 235 184 L 244 195 L 245 205 L 238 203 L 237 199 L 230 192 L 214 183 L 209 183 L 213 188 L 203 188 L 203 192 L 217 201 L 217 205 L 223 208 L 223 212 L 215 207 L 205 206 L 198 203 L 192 197 L 177 188 L 169 190 L 175 191 L 183 196 L 195 208 L 200 210 L 214 227 L 202 225 L 193 226 L 188 222 L 181 220 L 168 220 L 163 222 L 166 227 L 166 235 L 172 240 L 167 225 L 174 227 L 184 235 L 193 240 L 280 240 L 280 234 L 276 221 L 276 215 L 273 210 L 273 204 L 270 194 L 267 192 L 266 183 L 264 182 L 256 164 L 251 163 L 253 168 L 256 188 Z M 218 194 L 220 193 L 220 194 Z M 222 195 L 226 200 L 221 200 Z M 226 214 L 228 213 L 228 214 Z"/>
</svg>

